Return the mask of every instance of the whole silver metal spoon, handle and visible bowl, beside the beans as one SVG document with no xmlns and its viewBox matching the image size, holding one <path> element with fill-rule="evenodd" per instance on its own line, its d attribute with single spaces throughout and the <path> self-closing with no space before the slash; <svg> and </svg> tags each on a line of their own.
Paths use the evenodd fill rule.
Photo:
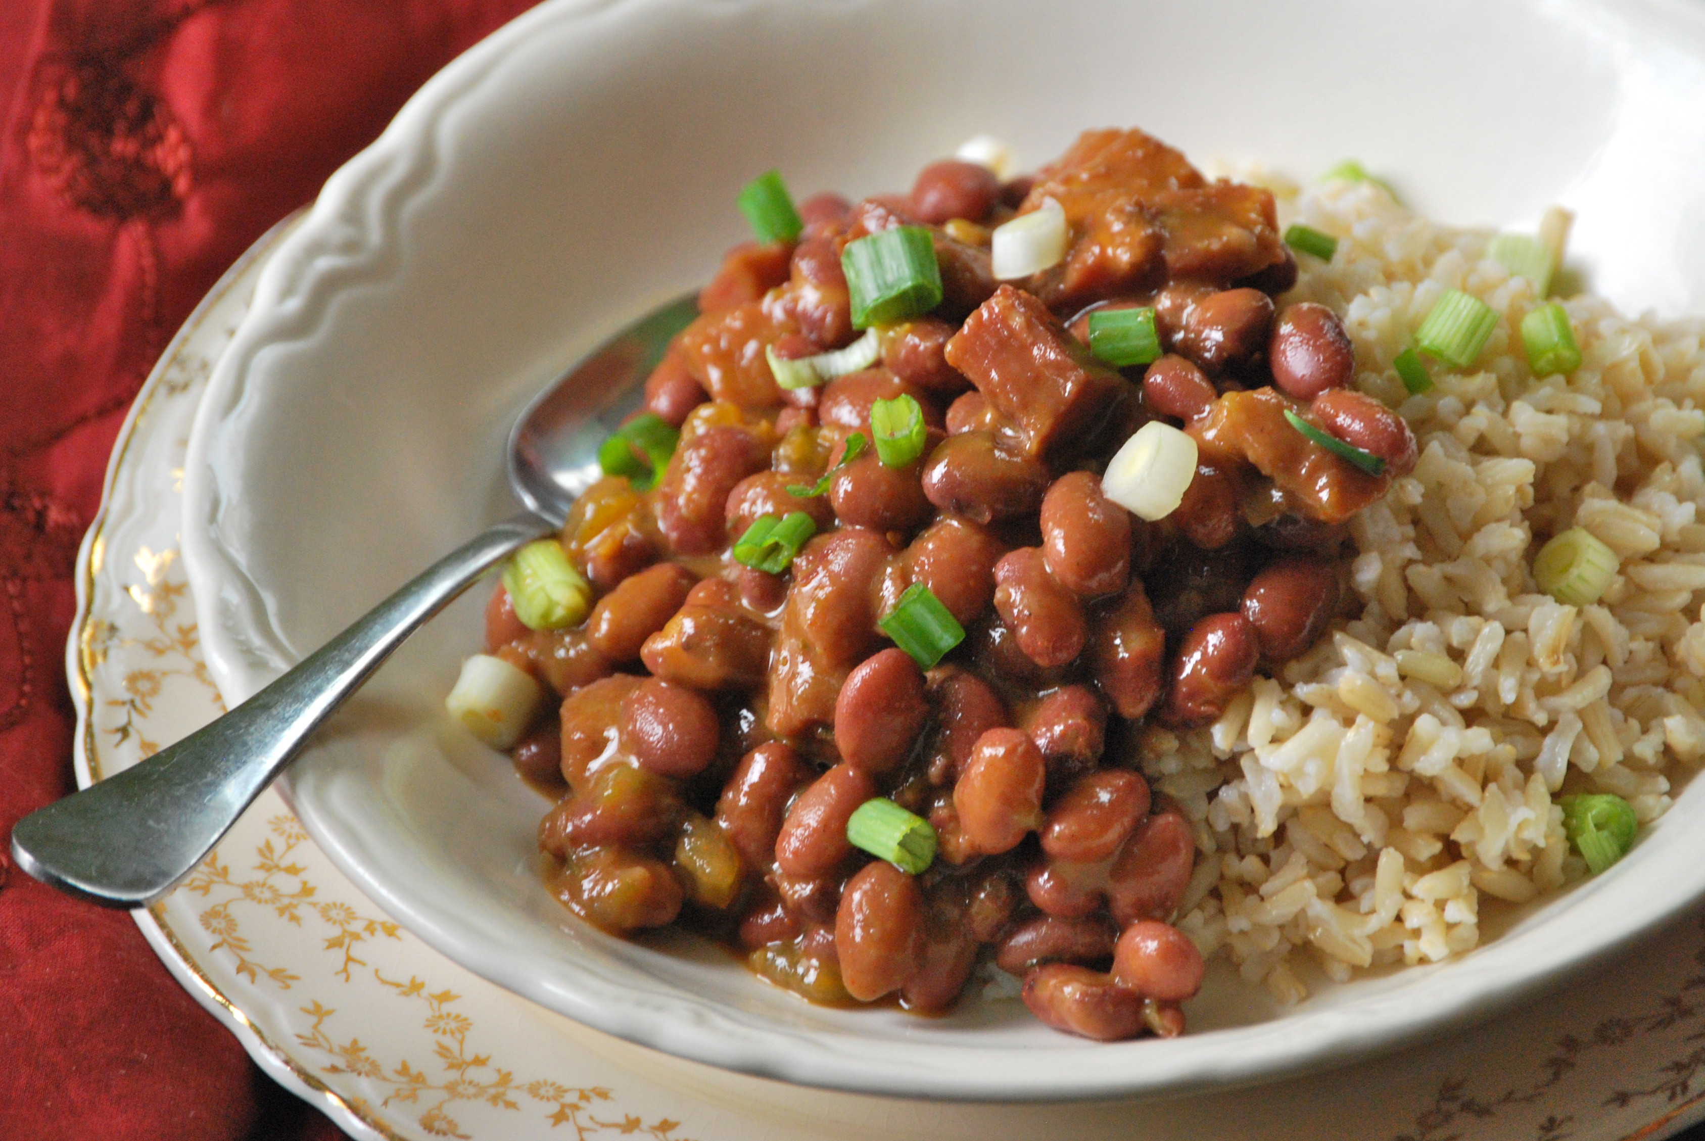
<svg viewBox="0 0 1705 1141">
<path fill-rule="evenodd" d="M 508 472 L 525 512 L 433 563 L 225 716 L 19 820 L 19 866 L 107 907 L 142 907 L 169 892 L 392 650 L 494 563 L 563 525 L 598 472 L 588 418 L 633 406 L 638 382 L 696 316 L 691 295 L 655 309 L 522 411 L 510 430 Z"/>
</svg>

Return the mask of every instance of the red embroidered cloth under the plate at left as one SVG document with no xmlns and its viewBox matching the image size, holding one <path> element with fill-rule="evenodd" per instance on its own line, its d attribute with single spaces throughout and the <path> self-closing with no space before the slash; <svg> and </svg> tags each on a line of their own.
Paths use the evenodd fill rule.
<svg viewBox="0 0 1705 1141">
<path fill-rule="evenodd" d="M 0 837 L 72 779 L 72 563 L 113 437 L 218 275 L 532 0 L 0 0 Z M 343 1136 L 124 912 L 0 854 L 0 1138 Z"/>
</svg>

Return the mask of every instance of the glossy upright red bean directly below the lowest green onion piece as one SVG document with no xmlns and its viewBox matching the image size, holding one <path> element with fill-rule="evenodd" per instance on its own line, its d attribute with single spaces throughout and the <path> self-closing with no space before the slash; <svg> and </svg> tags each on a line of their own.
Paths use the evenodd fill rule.
<svg viewBox="0 0 1705 1141">
<path fill-rule="evenodd" d="M 835 912 L 835 957 L 847 994 L 871 1003 L 899 991 L 922 955 L 924 894 L 887 860 L 847 880 Z"/>
</svg>

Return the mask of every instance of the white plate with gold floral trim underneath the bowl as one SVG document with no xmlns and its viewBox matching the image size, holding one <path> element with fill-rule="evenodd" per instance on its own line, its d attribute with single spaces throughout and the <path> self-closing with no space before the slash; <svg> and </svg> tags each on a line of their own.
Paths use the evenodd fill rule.
<svg viewBox="0 0 1705 1141">
<path fill-rule="evenodd" d="M 77 779 L 220 711 L 177 554 L 184 438 L 257 261 L 167 348 L 119 433 L 66 646 Z M 387 924 L 276 791 L 136 921 L 269 1074 L 356 1138 L 578 1141 L 1657 1141 L 1705 1114 L 1698 919 L 1567 993 L 1316 1078 L 1139 1105 L 916 1105 L 759 1081 L 578 1027 Z M 506 1097 L 493 1097 L 506 1093 Z"/>
</svg>

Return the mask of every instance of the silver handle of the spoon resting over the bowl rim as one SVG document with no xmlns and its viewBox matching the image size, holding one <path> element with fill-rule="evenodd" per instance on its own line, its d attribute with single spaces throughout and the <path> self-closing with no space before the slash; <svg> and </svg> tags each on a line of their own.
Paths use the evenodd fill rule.
<svg viewBox="0 0 1705 1141">
<path fill-rule="evenodd" d="M 12 856 L 38 880 L 107 907 L 153 902 L 392 650 L 489 566 L 551 530 L 522 513 L 457 547 L 230 713 L 19 820 Z"/>
</svg>

